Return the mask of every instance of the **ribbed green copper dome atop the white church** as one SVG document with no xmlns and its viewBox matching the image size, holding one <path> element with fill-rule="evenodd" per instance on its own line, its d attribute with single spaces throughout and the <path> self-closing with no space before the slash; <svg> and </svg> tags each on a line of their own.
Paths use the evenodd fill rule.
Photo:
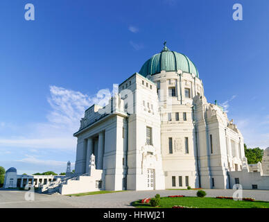
<svg viewBox="0 0 269 222">
<path fill-rule="evenodd" d="M 177 71 L 179 69 L 199 77 L 198 70 L 193 62 L 181 53 L 170 51 L 166 47 L 166 42 L 164 42 L 164 49 L 147 60 L 141 67 L 139 74 L 146 77 L 148 75 L 159 74 L 162 70 Z"/>
</svg>

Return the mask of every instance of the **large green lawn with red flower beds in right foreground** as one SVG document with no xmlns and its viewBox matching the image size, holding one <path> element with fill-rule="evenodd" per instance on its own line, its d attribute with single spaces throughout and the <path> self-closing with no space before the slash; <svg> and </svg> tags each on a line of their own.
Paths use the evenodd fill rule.
<svg viewBox="0 0 269 222">
<path fill-rule="evenodd" d="M 134 207 L 139 208 L 155 208 L 150 204 L 140 203 L 140 200 L 132 202 Z M 210 197 L 162 197 L 159 207 L 171 208 L 174 205 L 181 205 L 184 207 L 198 207 L 198 208 L 269 208 L 269 202 L 266 201 L 236 201 L 227 199 L 217 199 Z"/>
</svg>

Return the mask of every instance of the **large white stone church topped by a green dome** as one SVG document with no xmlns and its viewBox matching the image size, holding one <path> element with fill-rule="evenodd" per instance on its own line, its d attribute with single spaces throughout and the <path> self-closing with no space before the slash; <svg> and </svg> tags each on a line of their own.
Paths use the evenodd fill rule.
<svg viewBox="0 0 269 222">
<path fill-rule="evenodd" d="M 74 136 L 76 174 L 89 174 L 94 155 L 96 189 L 226 189 L 245 156 L 240 130 L 207 102 L 196 65 L 166 42 L 105 107 L 85 110 Z"/>
</svg>

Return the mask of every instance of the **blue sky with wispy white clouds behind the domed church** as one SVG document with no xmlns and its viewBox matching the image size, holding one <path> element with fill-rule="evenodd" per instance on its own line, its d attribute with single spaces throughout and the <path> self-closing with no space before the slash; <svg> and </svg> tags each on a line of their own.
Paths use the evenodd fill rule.
<svg viewBox="0 0 269 222">
<path fill-rule="evenodd" d="M 33 3 L 35 21 L 24 19 Z M 243 21 L 232 19 L 241 3 Z M 0 3 L 0 166 L 65 171 L 83 111 L 162 50 L 189 56 L 249 147 L 269 146 L 268 0 Z M 73 164 L 72 164 L 73 167 Z"/>
</svg>

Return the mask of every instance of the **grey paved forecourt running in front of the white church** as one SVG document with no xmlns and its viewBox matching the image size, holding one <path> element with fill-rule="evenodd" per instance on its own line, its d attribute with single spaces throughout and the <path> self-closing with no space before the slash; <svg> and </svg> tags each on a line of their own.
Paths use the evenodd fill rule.
<svg viewBox="0 0 269 222">
<path fill-rule="evenodd" d="M 208 197 L 232 196 L 232 189 L 205 189 Z M 34 201 L 26 201 L 26 191 L 0 190 L 0 208 L 21 207 L 21 208 L 53 208 L 53 207 L 98 207 L 118 208 L 132 207 L 130 203 L 141 198 L 150 198 L 155 194 L 161 196 L 185 195 L 196 196 L 197 190 L 158 190 L 158 191 L 123 191 L 110 194 L 96 194 L 91 196 L 62 196 L 59 194 L 35 194 Z M 243 190 L 243 197 L 251 197 L 256 200 L 269 201 L 269 191 Z"/>
</svg>

